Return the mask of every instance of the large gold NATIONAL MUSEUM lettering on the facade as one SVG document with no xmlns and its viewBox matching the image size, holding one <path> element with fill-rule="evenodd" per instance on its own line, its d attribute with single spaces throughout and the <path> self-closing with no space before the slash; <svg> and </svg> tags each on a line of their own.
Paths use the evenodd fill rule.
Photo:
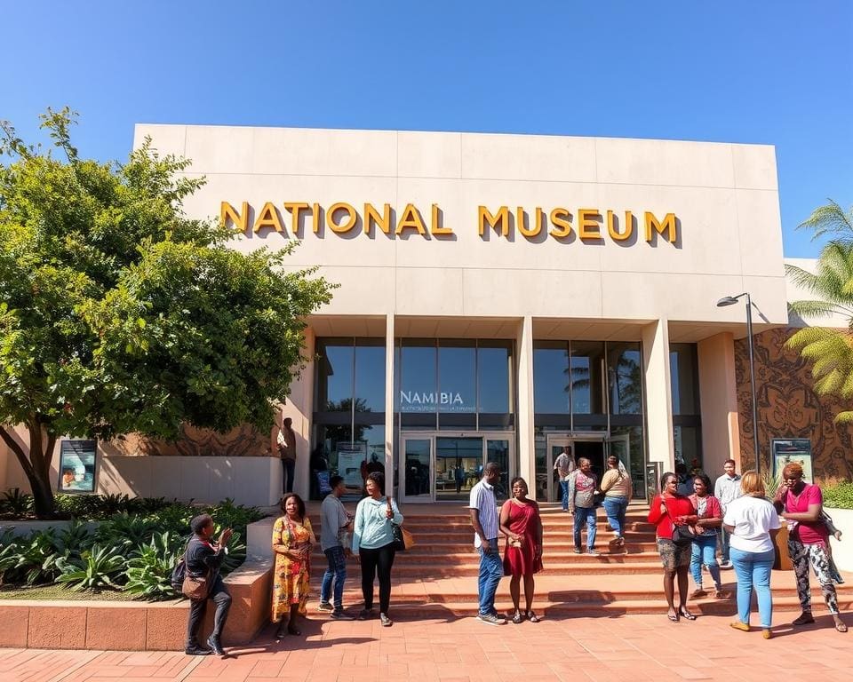
<svg viewBox="0 0 853 682">
<path fill-rule="evenodd" d="M 289 226 L 285 226 L 287 213 L 291 214 Z M 429 216 L 428 222 L 425 215 Z M 514 233 L 518 233 L 535 242 L 544 241 L 547 236 L 559 242 L 572 242 L 577 236 L 580 243 L 600 244 L 606 239 L 627 242 L 642 234 L 650 244 L 657 243 L 658 235 L 671 244 L 679 243 L 681 223 L 674 213 L 666 213 L 659 219 L 652 211 L 645 210 L 642 216 L 641 232 L 632 210 L 618 212 L 582 208 L 573 213 L 562 206 L 550 210 L 534 206 L 528 210 L 524 206 L 510 209 L 509 206 L 480 205 L 476 213 L 476 230 L 483 241 L 490 238 L 512 241 Z M 379 232 L 389 238 L 420 236 L 424 239 L 442 239 L 455 234 L 452 226 L 443 224 L 443 212 L 437 203 L 430 205 L 428 214 L 422 213 L 413 203 L 395 211 L 388 203 L 381 204 L 380 210 L 378 204 L 365 202 L 361 212 L 347 202 L 335 202 L 327 207 L 317 202 L 282 202 L 279 205 L 265 202 L 258 210 L 249 202 L 241 202 L 240 208 L 231 202 L 219 204 L 222 225 L 244 234 L 272 231 L 301 238 L 307 231 L 309 217 L 311 231 L 318 237 L 323 236 L 323 226 L 331 234 L 352 233 L 355 236 L 361 233 L 368 237 Z"/>
</svg>

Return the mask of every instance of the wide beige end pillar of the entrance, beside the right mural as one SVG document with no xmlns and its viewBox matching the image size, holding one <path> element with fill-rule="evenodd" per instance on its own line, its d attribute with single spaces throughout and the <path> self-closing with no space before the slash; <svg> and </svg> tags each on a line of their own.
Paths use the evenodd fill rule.
<svg viewBox="0 0 853 682">
<path fill-rule="evenodd" d="M 712 477 L 720 475 L 722 464 L 734 459 L 740 471 L 734 338 L 728 332 L 706 338 L 697 353 L 705 470 Z"/>
</svg>

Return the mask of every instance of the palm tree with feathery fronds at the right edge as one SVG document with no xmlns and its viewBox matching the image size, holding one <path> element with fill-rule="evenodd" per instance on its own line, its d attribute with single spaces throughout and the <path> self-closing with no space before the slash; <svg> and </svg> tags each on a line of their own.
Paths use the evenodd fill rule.
<svg viewBox="0 0 853 682">
<path fill-rule="evenodd" d="M 837 314 L 847 319 L 847 329 L 804 327 L 794 332 L 785 346 L 812 362 L 811 375 L 818 395 L 853 399 L 853 210 L 845 213 L 830 201 L 820 206 L 800 228 L 810 229 L 813 239 L 830 235 L 817 260 L 814 273 L 785 266 L 791 281 L 815 295 L 793 301 L 790 310 L 802 319 Z M 853 423 L 853 410 L 835 416 L 841 424 Z"/>
</svg>

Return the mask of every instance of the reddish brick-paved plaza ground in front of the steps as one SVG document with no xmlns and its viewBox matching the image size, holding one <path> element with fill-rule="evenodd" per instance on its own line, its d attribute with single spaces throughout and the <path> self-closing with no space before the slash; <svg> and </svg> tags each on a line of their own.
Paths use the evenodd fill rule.
<svg viewBox="0 0 853 682">
<path fill-rule="evenodd" d="M 853 634 L 828 615 L 794 630 L 777 614 L 775 637 L 729 628 L 725 616 L 669 623 L 661 615 L 546 618 L 490 627 L 474 618 L 338 623 L 313 620 L 281 643 L 268 629 L 227 659 L 178 652 L 0 649 L 0 682 L 841 682 Z M 853 617 L 847 615 L 853 625 Z"/>
</svg>

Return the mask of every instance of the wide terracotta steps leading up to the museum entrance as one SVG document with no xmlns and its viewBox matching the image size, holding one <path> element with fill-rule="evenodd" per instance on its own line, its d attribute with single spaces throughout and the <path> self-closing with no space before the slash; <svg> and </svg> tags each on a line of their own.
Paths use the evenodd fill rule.
<svg viewBox="0 0 853 682">
<path fill-rule="evenodd" d="M 311 514 L 315 528 L 319 515 Z M 405 526 L 415 536 L 417 545 L 398 552 L 392 572 L 391 610 L 398 615 L 420 617 L 456 617 L 476 615 L 479 556 L 474 551 L 474 531 L 466 509 L 456 505 L 409 505 L 403 509 Z M 545 527 L 543 563 L 545 569 L 536 575 L 534 609 L 540 615 L 625 615 L 665 614 L 660 559 L 655 545 L 654 527 L 645 519 L 648 507 L 632 504 L 628 510 L 626 547 L 611 548 L 613 537 L 602 511 L 599 512 L 596 549 L 601 556 L 575 554 L 571 518 L 558 504 L 543 504 Z M 586 534 L 585 534 L 586 535 Z M 586 536 L 584 537 L 586 547 Z M 503 543 L 501 543 L 503 551 Z M 326 560 L 319 549 L 312 564 L 312 599 L 309 615 L 319 616 L 315 607 Z M 710 575 L 705 575 L 705 589 L 712 591 Z M 853 575 L 845 574 L 847 583 L 839 586 L 841 610 L 853 607 Z M 691 599 L 690 608 L 698 614 L 733 615 L 736 579 L 731 570 L 722 571 L 722 583 L 731 599 Z M 344 604 L 360 607 L 361 571 L 355 560 L 348 563 Z M 778 611 L 798 611 L 791 571 L 774 571 L 773 605 Z M 690 591 L 694 585 L 690 579 Z M 377 596 L 374 601 L 378 600 Z M 820 590 L 813 593 L 817 613 L 825 610 Z M 523 596 L 522 596 L 523 601 Z M 523 606 L 523 604 L 522 604 Z M 499 611 L 510 611 L 508 578 L 498 587 Z M 313 613 L 311 613 L 313 612 Z"/>
</svg>

